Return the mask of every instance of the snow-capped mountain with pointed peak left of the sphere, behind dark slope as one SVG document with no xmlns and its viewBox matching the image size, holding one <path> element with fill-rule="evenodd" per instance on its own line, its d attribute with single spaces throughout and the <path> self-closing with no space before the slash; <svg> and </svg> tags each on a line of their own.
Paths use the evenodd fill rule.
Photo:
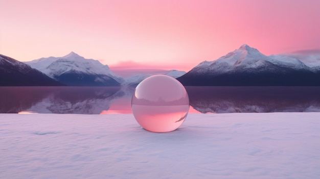
<svg viewBox="0 0 320 179">
<path fill-rule="evenodd" d="M 71 52 L 63 57 L 40 58 L 26 64 L 68 86 L 120 86 L 123 78 L 98 60 Z"/>
</svg>

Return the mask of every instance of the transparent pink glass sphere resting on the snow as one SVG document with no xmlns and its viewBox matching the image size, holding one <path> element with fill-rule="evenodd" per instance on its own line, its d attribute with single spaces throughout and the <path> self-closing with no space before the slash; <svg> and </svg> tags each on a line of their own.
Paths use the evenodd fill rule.
<svg viewBox="0 0 320 179">
<path fill-rule="evenodd" d="M 151 132 L 176 130 L 189 111 L 188 93 L 182 84 L 167 75 L 153 75 L 142 81 L 131 100 L 136 121 Z"/>
</svg>

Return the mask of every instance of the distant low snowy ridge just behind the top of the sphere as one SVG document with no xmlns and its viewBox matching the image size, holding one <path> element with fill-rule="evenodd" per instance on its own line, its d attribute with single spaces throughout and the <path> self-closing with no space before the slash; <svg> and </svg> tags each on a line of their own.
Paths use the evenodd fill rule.
<svg viewBox="0 0 320 179">
<path fill-rule="evenodd" d="M 165 73 L 162 73 L 164 75 L 171 76 L 172 78 L 178 78 L 184 74 L 186 74 L 186 71 L 179 71 L 179 70 L 170 70 Z M 123 83 L 123 86 L 135 86 L 138 85 L 140 82 L 142 82 L 144 79 L 148 78 L 149 76 L 152 76 L 151 74 L 137 74 L 130 76 L 125 79 L 125 82 Z"/>
</svg>

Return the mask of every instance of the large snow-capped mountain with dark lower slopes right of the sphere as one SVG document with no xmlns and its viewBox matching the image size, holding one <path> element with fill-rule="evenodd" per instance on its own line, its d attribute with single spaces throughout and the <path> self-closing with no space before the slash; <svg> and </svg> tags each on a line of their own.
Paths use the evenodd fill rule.
<svg viewBox="0 0 320 179">
<path fill-rule="evenodd" d="M 177 78 L 185 86 L 320 86 L 319 71 L 301 60 L 265 56 L 246 44 Z"/>
</svg>

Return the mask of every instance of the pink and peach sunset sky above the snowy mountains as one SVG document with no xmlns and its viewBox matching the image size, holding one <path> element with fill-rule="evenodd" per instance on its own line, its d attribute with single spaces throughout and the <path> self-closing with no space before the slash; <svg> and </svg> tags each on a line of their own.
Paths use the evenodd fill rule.
<svg viewBox="0 0 320 179">
<path fill-rule="evenodd" d="M 0 0 L 0 54 L 71 51 L 103 64 L 190 70 L 246 43 L 265 55 L 320 48 L 319 0 Z"/>
</svg>

